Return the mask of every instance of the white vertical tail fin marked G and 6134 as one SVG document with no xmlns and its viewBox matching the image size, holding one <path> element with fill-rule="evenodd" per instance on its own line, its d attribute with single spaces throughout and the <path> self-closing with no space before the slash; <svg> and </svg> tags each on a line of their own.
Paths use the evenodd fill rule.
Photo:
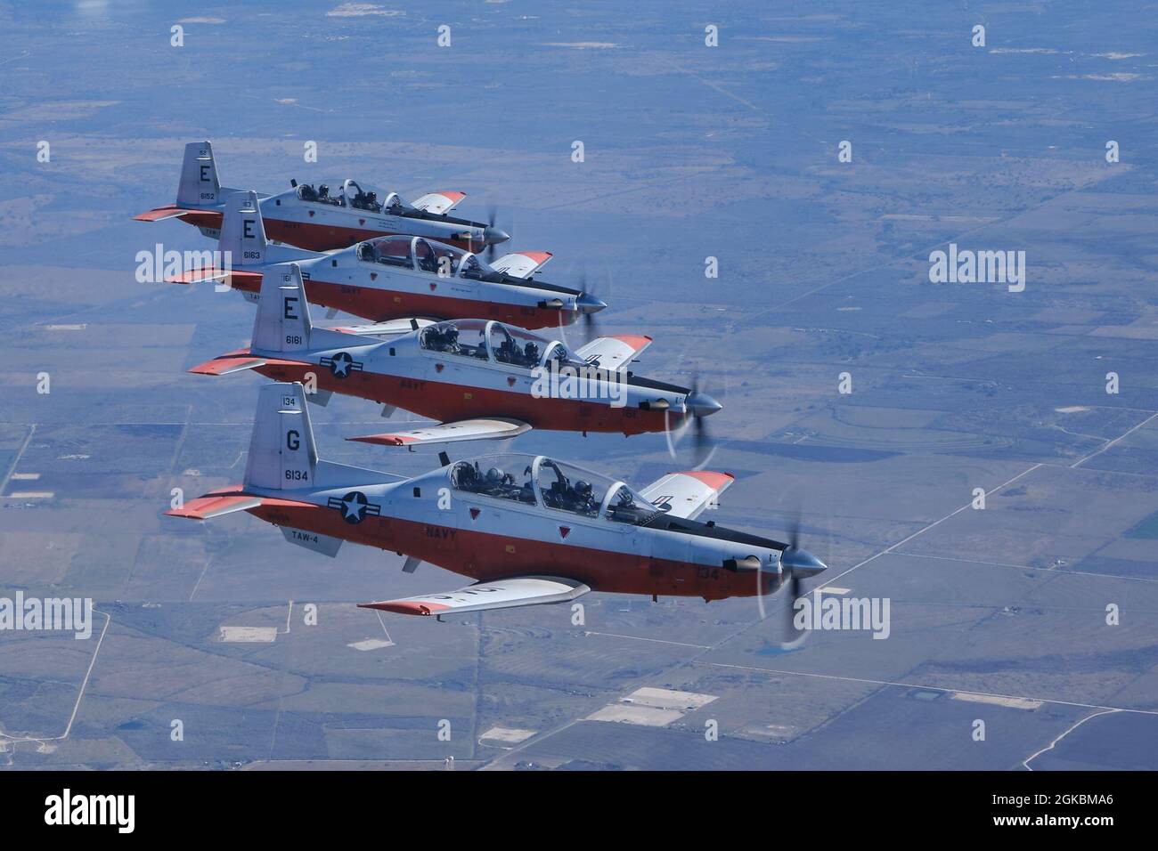
<svg viewBox="0 0 1158 851">
<path fill-rule="evenodd" d="M 317 448 L 301 383 L 263 386 L 249 439 L 245 486 L 283 491 L 313 487 L 316 469 Z"/>
</svg>

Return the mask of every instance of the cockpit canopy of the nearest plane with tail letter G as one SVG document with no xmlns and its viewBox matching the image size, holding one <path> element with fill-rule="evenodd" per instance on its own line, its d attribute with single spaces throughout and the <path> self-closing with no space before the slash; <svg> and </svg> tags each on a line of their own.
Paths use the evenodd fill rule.
<svg viewBox="0 0 1158 851">
<path fill-rule="evenodd" d="M 486 455 L 450 465 L 459 491 L 616 523 L 645 523 L 662 508 L 624 482 L 543 455 Z"/>
</svg>

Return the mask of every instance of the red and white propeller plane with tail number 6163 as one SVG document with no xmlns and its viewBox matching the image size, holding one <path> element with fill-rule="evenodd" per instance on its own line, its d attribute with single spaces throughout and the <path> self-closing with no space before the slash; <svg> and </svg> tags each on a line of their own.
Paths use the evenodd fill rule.
<svg viewBox="0 0 1158 851">
<path fill-rule="evenodd" d="M 515 251 L 486 263 L 422 236 L 380 236 L 324 254 L 274 243 L 265 234 L 256 192 L 235 192 L 226 200 L 219 254 L 222 266 L 189 270 L 168 280 L 227 280 L 256 298 L 266 270 L 281 274 L 281 264 L 296 263 L 313 303 L 373 322 L 483 317 L 555 328 L 607 307 L 588 293 L 535 280 L 535 272 L 551 259 L 548 251 Z"/>
</svg>

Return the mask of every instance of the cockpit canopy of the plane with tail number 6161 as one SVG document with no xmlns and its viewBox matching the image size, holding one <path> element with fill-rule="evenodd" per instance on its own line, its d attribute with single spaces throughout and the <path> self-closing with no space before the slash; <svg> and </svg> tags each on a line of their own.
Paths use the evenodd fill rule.
<svg viewBox="0 0 1158 851">
<path fill-rule="evenodd" d="M 587 365 L 587 361 L 559 340 L 496 320 L 435 322 L 418 332 L 418 345 L 432 352 L 508 364 L 525 369 L 547 366 L 551 360 L 556 361 L 556 366 Z"/>
</svg>

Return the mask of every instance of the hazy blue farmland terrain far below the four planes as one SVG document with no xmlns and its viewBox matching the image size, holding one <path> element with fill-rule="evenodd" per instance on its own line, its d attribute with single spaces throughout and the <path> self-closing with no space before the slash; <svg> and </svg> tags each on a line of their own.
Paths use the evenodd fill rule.
<svg viewBox="0 0 1158 851">
<path fill-rule="evenodd" d="M 39 2 L 0 32 L 0 596 L 98 610 L 87 641 L 0 631 L 0 765 L 1158 768 L 1152 3 Z M 783 597 L 380 621 L 353 604 L 464 581 L 164 518 L 240 480 L 262 381 L 185 372 L 248 340 L 237 294 L 133 276 L 213 247 L 131 220 L 203 139 L 240 189 L 494 205 L 602 330 L 655 338 L 642 372 L 721 398 L 717 522 L 778 537 L 802 505 L 824 581 L 888 597 L 891 637 L 783 652 Z M 1025 251 L 1025 291 L 930 283 L 948 243 Z M 367 403 L 312 415 L 327 457 L 437 464 L 345 441 L 380 430 Z M 636 485 L 690 463 L 664 435 L 514 448 Z M 714 699 L 586 720 L 642 688 Z"/>
</svg>

